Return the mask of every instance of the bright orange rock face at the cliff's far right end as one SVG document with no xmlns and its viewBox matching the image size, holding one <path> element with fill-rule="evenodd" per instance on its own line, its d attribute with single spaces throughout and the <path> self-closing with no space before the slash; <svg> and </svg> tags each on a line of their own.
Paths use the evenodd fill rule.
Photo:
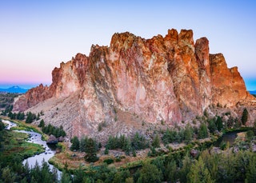
<svg viewBox="0 0 256 183">
<path fill-rule="evenodd" d="M 246 85 L 238 72 L 238 67 L 227 68 L 222 54 L 210 54 L 210 74 L 212 103 L 234 106 L 238 101 L 253 100 L 246 91 Z"/>
</svg>

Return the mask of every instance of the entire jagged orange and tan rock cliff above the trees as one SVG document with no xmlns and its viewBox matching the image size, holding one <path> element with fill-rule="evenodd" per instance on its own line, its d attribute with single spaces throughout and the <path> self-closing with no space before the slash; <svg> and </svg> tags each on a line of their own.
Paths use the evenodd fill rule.
<svg viewBox="0 0 256 183">
<path fill-rule="evenodd" d="M 78 136 L 97 131 L 101 122 L 128 118 L 132 128 L 138 121 L 174 125 L 210 104 L 232 107 L 251 97 L 238 69 L 228 69 L 222 54 L 209 54 L 206 38 L 194 43 L 192 30 L 168 30 L 166 37 L 151 39 L 114 34 L 109 47 L 92 46 L 89 57 L 77 54 L 52 75 L 50 87 L 29 90 L 14 110 L 38 111 L 42 101 L 51 101 L 45 108 L 50 122 L 62 121 Z M 56 106 L 66 114 L 53 115 Z"/>
</svg>

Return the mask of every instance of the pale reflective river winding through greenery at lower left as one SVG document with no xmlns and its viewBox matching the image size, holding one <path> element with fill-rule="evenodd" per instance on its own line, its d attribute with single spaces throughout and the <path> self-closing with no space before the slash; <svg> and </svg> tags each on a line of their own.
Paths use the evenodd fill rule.
<svg viewBox="0 0 256 183">
<path fill-rule="evenodd" d="M 11 127 L 17 126 L 16 123 L 2 120 L 4 123 L 7 124 L 6 129 L 10 129 Z M 38 145 L 42 145 L 42 147 L 45 149 L 44 153 L 39 153 L 37 155 L 34 155 L 34 157 L 28 157 L 23 160 L 22 164 L 25 165 L 26 162 L 28 163 L 29 167 L 34 167 L 38 163 L 39 166 L 42 165 L 42 161 L 46 161 L 48 163 L 50 157 L 53 157 L 56 153 L 56 146 L 55 145 L 47 145 L 46 141 L 42 141 L 42 135 L 40 133 L 36 133 L 33 131 L 25 131 L 25 130 L 14 130 L 19 133 L 26 133 L 29 134 L 30 137 L 27 140 L 28 142 L 35 143 Z M 49 163 L 48 163 L 49 164 Z M 49 164 L 50 169 L 53 171 L 54 166 Z M 58 170 L 58 177 L 61 177 L 62 172 Z"/>
</svg>

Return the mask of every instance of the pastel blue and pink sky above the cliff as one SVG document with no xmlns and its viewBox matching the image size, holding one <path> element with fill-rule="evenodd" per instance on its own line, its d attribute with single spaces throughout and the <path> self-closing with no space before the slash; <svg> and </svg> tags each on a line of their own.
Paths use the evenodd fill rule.
<svg viewBox="0 0 256 183">
<path fill-rule="evenodd" d="M 60 1 L 0 2 L 0 86 L 50 85 L 51 71 L 90 46 L 109 46 L 116 32 L 142 38 L 168 29 L 206 37 L 210 53 L 238 66 L 247 90 L 256 90 L 256 1 Z"/>
</svg>

